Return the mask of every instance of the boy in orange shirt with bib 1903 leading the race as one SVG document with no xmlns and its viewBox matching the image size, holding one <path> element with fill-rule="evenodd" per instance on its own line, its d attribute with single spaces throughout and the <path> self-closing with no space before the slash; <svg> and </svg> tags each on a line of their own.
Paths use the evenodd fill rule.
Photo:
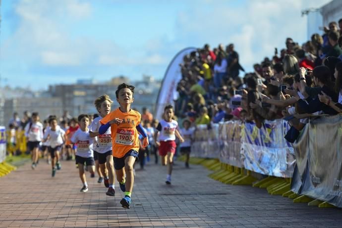
<svg viewBox="0 0 342 228">
<path fill-rule="evenodd" d="M 140 125 L 141 115 L 130 108 L 133 102 L 134 87 L 125 83 L 119 85 L 115 91 L 116 101 L 120 107 L 104 117 L 100 123 L 99 134 L 104 134 L 111 127 L 113 158 L 116 179 L 125 196 L 120 203 L 123 208 L 129 208 L 133 190 L 133 164 L 138 157 L 139 135 L 144 137 L 143 147 L 148 145 L 146 132 Z M 126 173 L 126 180 L 125 180 Z"/>
</svg>

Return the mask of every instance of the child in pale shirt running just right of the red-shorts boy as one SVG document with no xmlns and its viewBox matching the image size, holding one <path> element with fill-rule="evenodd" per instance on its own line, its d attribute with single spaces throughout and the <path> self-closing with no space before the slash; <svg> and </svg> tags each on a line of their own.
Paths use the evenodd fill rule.
<svg viewBox="0 0 342 228">
<path fill-rule="evenodd" d="M 189 158 L 194 129 L 190 128 L 191 122 L 187 119 L 183 120 L 182 126 L 183 128 L 180 129 L 180 134 L 183 136 L 184 142 L 180 143 L 180 153 L 185 155 L 185 167 L 189 168 Z"/>
</svg>

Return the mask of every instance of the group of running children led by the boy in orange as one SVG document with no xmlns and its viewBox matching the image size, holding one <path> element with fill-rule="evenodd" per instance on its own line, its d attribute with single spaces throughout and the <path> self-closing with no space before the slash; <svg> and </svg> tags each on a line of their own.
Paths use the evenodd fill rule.
<svg viewBox="0 0 342 228">
<path fill-rule="evenodd" d="M 142 153 L 149 145 L 149 141 L 154 141 L 155 145 L 159 147 L 162 165 L 167 166 L 166 183 L 171 184 L 176 137 L 181 142 L 181 152 L 186 154 L 185 166 L 188 167 L 191 136 L 193 134 L 190 129 L 190 121 L 183 121 L 184 128 L 178 130 L 178 123 L 172 119 L 174 116 L 173 107 L 168 105 L 165 107 L 164 119 L 158 124 L 156 133 L 146 131 L 140 123 L 141 114 L 131 109 L 131 104 L 134 101 L 133 94 L 133 86 L 124 83 L 119 85 L 115 91 L 116 101 L 119 104 L 117 109 L 111 112 L 113 101 L 108 95 L 102 95 L 94 102 L 99 116 L 91 122 L 87 114 L 81 114 L 77 119 L 79 127 L 76 128 L 72 124 L 71 128 L 66 131 L 58 126 L 57 118 L 51 116 L 49 127 L 43 133 L 43 125 L 39 122 L 39 115 L 33 113 L 31 123 L 27 124 L 25 128 L 28 138 L 27 145 L 32 153 L 32 169 L 37 166 L 38 147 L 42 141 L 48 146 L 51 155 L 52 177 L 54 177 L 56 170 L 61 169 L 60 152 L 63 143 L 67 142 L 68 157 L 72 154 L 72 149 L 75 151 L 79 177 L 83 184 L 80 191 L 88 191 L 84 171 L 85 169 L 88 170 L 91 178 L 94 178 L 95 161 L 97 161 L 100 178 L 103 177 L 103 182 L 108 188 L 106 194 L 115 195 L 114 179 L 116 176 L 120 190 L 124 192 L 124 197 L 120 203 L 122 207 L 129 208 L 134 183 L 133 165 L 140 157 L 139 151 Z M 77 149 L 73 145 L 77 145 Z M 102 180 L 99 179 L 98 182 L 102 182 Z"/>
</svg>

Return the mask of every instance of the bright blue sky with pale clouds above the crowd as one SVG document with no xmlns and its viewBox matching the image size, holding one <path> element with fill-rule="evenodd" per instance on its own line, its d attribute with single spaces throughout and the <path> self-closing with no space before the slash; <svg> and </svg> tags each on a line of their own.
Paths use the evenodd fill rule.
<svg viewBox="0 0 342 228">
<path fill-rule="evenodd" d="M 254 62 L 303 43 L 300 11 L 329 0 L 2 0 L 0 85 L 47 89 L 117 75 L 161 79 L 188 46 L 235 44 Z"/>
</svg>

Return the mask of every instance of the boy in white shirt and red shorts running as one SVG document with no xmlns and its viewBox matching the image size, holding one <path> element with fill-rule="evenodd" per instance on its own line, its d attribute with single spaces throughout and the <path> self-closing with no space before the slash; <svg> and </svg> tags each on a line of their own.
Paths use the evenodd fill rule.
<svg viewBox="0 0 342 228">
<path fill-rule="evenodd" d="M 174 115 L 172 105 L 164 108 L 164 119 L 158 124 L 155 134 L 156 145 L 159 146 L 159 155 L 161 156 L 162 165 L 168 165 L 168 174 L 166 183 L 171 184 L 171 173 L 173 166 L 173 155 L 176 152 L 176 137 L 180 142 L 184 142 L 183 137 L 179 134 L 178 123 L 172 120 Z M 159 133 L 159 141 L 157 140 Z"/>
</svg>

